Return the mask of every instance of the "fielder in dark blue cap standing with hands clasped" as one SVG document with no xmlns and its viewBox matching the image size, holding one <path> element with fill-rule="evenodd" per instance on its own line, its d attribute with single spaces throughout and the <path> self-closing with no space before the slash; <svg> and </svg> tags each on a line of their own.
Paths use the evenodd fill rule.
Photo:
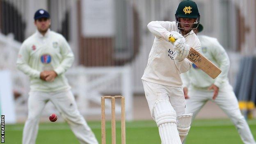
<svg viewBox="0 0 256 144">
<path fill-rule="evenodd" d="M 37 31 L 21 46 L 17 68 L 30 77 L 28 117 L 23 129 L 23 144 L 35 144 L 39 117 L 51 101 L 81 144 L 98 144 L 94 133 L 78 112 L 71 87 L 64 73 L 73 63 L 74 55 L 66 39 L 49 29 L 50 15 L 39 9 L 34 14 Z"/>
</svg>

